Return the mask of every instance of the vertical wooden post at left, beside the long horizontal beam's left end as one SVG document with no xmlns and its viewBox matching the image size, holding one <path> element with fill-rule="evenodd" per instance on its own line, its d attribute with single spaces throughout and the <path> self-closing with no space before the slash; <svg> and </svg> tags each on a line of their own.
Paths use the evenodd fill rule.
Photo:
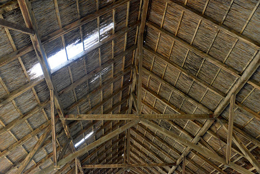
<svg viewBox="0 0 260 174">
<path fill-rule="evenodd" d="M 56 129 L 55 129 L 55 115 L 54 115 L 54 92 L 50 90 L 51 100 L 51 124 L 52 124 L 52 150 L 53 150 L 53 165 L 57 167 L 57 151 L 56 151 Z"/>
</svg>

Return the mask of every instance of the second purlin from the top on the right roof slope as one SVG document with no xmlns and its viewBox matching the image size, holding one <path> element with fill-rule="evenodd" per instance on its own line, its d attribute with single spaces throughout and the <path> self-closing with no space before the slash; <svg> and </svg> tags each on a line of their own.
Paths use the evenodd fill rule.
<svg viewBox="0 0 260 174">
<path fill-rule="evenodd" d="M 154 30 L 156 30 L 157 32 L 160 32 L 161 34 L 166 35 L 167 37 L 170 37 L 172 40 L 179 42 L 181 45 L 183 45 L 184 47 L 186 47 L 187 49 L 193 51 L 194 53 L 200 55 L 201 57 L 203 57 L 205 60 L 211 62 L 212 64 L 218 66 L 219 68 L 224 69 L 225 71 L 229 72 L 230 74 L 234 75 L 236 78 L 241 78 L 241 73 L 231 67 L 229 67 L 228 65 L 222 63 L 219 60 L 216 60 L 214 57 L 210 56 L 209 54 L 201 51 L 200 49 L 190 45 L 189 43 L 187 43 L 186 41 L 182 40 L 180 37 L 175 36 L 174 34 L 171 34 L 170 32 L 168 32 L 167 30 L 157 26 L 154 23 L 151 22 L 147 22 L 146 25 L 150 28 L 153 28 Z M 258 53 L 259 54 L 259 53 Z M 256 55 L 257 56 L 257 55 Z M 259 55 L 258 55 L 259 56 Z M 244 72 L 245 73 L 245 72 Z M 249 80 L 247 83 L 249 83 L 250 85 L 256 87 L 256 88 L 260 88 L 259 83 L 257 83 L 254 80 Z"/>
</svg>

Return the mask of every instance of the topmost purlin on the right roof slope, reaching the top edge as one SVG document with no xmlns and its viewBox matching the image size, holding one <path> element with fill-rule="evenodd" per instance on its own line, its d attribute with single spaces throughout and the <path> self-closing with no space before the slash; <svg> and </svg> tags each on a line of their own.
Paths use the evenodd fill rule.
<svg viewBox="0 0 260 174">
<path fill-rule="evenodd" d="M 209 25 L 212 25 L 213 27 L 221 30 L 221 31 L 224 31 L 226 32 L 227 34 L 237 38 L 238 40 L 241 40 L 242 42 L 245 42 L 247 44 L 249 44 L 250 46 L 254 47 L 255 49 L 258 49 L 260 48 L 260 44 L 254 40 L 252 40 L 251 38 L 245 36 L 245 35 L 242 35 L 241 33 L 231 29 L 231 28 L 228 28 L 227 26 L 219 23 L 219 22 L 216 22 L 214 20 L 212 20 L 212 18 L 204 15 L 204 14 L 201 14 L 199 11 L 197 10 L 194 10 L 188 6 L 185 6 L 183 5 L 182 3 L 179 3 L 179 2 L 175 2 L 173 0 L 164 0 L 165 2 L 169 3 L 170 5 L 172 6 L 175 6 L 181 10 L 184 10 L 185 13 L 187 14 L 190 14 L 196 18 L 198 18 L 199 20 L 209 24 Z"/>
</svg>

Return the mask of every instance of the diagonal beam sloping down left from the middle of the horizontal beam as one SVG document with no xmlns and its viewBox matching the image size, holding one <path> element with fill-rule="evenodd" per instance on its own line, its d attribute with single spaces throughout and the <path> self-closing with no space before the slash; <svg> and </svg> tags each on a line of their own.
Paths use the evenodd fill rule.
<svg viewBox="0 0 260 174">
<path fill-rule="evenodd" d="M 89 151 L 89 150 L 91 150 L 91 149 L 101 145 L 102 143 L 112 139 L 113 137 L 115 137 L 118 134 L 122 133 L 123 131 L 125 131 L 129 127 L 132 127 L 132 126 L 136 125 L 137 123 L 139 123 L 139 120 L 140 119 L 136 119 L 136 120 L 134 120 L 132 122 L 129 122 L 126 125 L 118 128 L 117 130 L 114 130 L 113 132 L 107 134 L 106 136 L 104 136 L 104 137 L 98 139 L 97 141 L 89 144 L 88 146 L 83 147 L 80 150 L 70 154 L 68 157 L 61 159 L 58 162 L 58 166 L 64 165 L 64 164 L 68 163 L 69 161 L 71 161 L 71 160 L 73 160 L 73 159 L 75 159 L 77 157 L 82 156 L 83 154 L 85 154 L 86 151 Z M 52 171 L 53 169 L 54 169 L 53 166 L 49 166 L 49 167 L 45 168 L 44 170 L 41 170 L 41 171 L 37 172 L 37 174 L 39 174 L 39 173 L 46 173 L 46 172 Z"/>
</svg>

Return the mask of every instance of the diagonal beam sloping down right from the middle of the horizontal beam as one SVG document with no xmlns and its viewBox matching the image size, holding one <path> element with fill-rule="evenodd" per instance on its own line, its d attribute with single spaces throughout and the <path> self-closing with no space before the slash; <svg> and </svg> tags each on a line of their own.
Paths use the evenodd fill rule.
<svg viewBox="0 0 260 174">
<path fill-rule="evenodd" d="M 207 156 L 209 158 L 212 158 L 212 159 L 214 159 L 216 161 L 219 161 L 220 163 L 226 164 L 226 160 L 223 159 L 222 157 L 217 156 L 215 153 L 211 152 L 208 149 L 202 148 L 202 147 L 200 147 L 200 146 L 198 146 L 196 144 L 193 144 L 193 143 L 187 141 L 186 139 L 184 139 L 182 137 L 177 136 L 175 133 L 170 132 L 170 131 L 164 129 L 161 126 L 158 126 L 158 125 L 156 125 L 154 123 L 151 123 L 151 122 L 149 122 L 147 120 L 144 120 L 144 119 L 141 119 L 140 122 L 142 124 L 146 125 L 146 126 L 149 126 L 149 127 L 153 128 L 153 129 L 161 132 L 165 136 L 168 136 L 169 138 L 172 138 L 175 141 L 177 141 L 177 142 L 179 142 L 179 143 L 181 143 L 181 144 L 183 144 L 185 146 L 188 146 L 188 147 L 190 147 L 190 148 L 192 148 L 192 149 L 194 149 L 194 150 L 204 154 L 205 156 Z M 252 173 L 252 172 L 248 171 L 247 169 L 245 169 L 245 168 L 243 168 L 243 167 L 241 167 L 239 165 L 236 165 L 236 164 L 234 164 L 232 162 L 230 162 L 229 166 L 231 168 L 235 169 L 236 171 L 241 172 L 241 173 Z"/>
</svg>

